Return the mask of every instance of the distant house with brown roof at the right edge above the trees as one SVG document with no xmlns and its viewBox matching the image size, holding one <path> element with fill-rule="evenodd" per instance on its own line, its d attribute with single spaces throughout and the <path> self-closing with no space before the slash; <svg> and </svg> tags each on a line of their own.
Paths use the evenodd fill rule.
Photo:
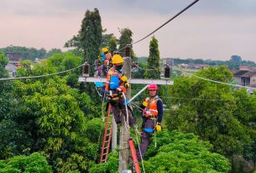
<svg viewBox="0 0 256 173">
<path fill-rule="evenodd" d="M 239 70 L 233 75 L 238 84 L 241 84 L 242 86 L 256 87 L 256 72 Z"/>
</svg>

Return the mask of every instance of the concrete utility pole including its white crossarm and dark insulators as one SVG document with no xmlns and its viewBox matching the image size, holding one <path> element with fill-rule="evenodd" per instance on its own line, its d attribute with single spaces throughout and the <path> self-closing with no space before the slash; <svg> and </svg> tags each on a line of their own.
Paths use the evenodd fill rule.
<svg viewBox="0 0 256 173">
<path fill-rule="evenodd" d="M 165 79 L 130 79 L 131 77 L 131 67 L 132 67 L 132 59 L 130 55 L 131 47 L 126 46 L 124 49 L 124 64 L 123 64 L 123 74 L 125 74 L 128 77 L 128 82 L 130 84 L 164 84 L 164 85 L 172 85 L 174 84 L 174 81 L 170 80 L 170 68 L 165 68 Z M 79 77 L 79 82 L 84 83 L 91 83 L 91 82 L 106 82 L 106 78 L 94 78 L 89 77 L 89 64 L 85 63 L 83 66 L 83 74 Z M 140 94 L 140 92 L 138 92 Z M 134 97 L 138 96 L 137 94 L 133 96 L 131 100 L 134 99 Z M 131 98 L 131 89 L 130 87 L 127 89 L 126 98 Z M 113 120 L 114 121 L 114 120 Z M 124 115 L 121 114 L 121 127 L 120 127 L 120 142 L 119 142 L 119 167 L 118 171 L 122 173 L 130 172 L 128 170 L 128 154 L 129 154 L 129 145 L 128 140 L 130 137 L 129 130 L 124 124 Z M 114 134 L 117 133 L 117 129 L 115 129 L 115 126 L 112 126 L 112 140 L 117 140 L 115 138 Z M 112 148 L 116 147 L 116 141 L 113 141 Z"/>
</svg>

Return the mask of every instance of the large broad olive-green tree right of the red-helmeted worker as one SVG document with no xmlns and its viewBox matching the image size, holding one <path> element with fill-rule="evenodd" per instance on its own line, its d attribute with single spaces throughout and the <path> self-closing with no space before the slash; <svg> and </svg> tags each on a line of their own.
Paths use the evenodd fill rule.
<svg viewBox="0 0 256 173">
<path fill-rule="evenodd" d="M 229 83 L 231 72 L 224 68 L 202 69 L 196 73 L 206 79 Z M 243 155 L 255 160 L 255 100 L 245 90 L 196 78 L 175 79 L 170 89 L 170 130 L 193 132 L 209 140 L 213 150 L 227 157 Z"/>
</svg>

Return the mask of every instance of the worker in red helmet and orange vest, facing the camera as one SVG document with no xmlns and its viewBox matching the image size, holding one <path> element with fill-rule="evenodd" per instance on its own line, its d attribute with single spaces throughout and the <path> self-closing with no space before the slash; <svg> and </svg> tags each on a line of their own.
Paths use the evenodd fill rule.
<svg viewBox="0 0 256 173">
<path fill-rule="evenodd" d="M 161 122 L 163 119 L 163 102 L 158 96 L 158 86 L 156 84 L 149 84 L 149 97 L 144 99 L 143 104 L 140 105 L 143 114 L 143 132 L 141 136 L 141 143 L 139 150 L 137 150 L 138 160 L 144 158 L 149 147 L 150 137 L 154 131 L 161 131 Z M 141 152 L 141 155 L 140 155 Z"/>
</svg>

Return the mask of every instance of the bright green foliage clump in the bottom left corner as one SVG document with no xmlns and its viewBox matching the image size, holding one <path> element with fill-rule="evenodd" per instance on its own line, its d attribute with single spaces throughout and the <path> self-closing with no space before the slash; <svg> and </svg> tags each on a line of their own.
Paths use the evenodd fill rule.
<svg viewBox="0 0 256 173">
<path fill-rule="evenodd" d="M 48 165 L 44 156 L 39 153 L 32 155 L 14 156 L 9 160 L 0 160 L 1 173 L 51 173 L 51 167 Z"/>
</svg>

